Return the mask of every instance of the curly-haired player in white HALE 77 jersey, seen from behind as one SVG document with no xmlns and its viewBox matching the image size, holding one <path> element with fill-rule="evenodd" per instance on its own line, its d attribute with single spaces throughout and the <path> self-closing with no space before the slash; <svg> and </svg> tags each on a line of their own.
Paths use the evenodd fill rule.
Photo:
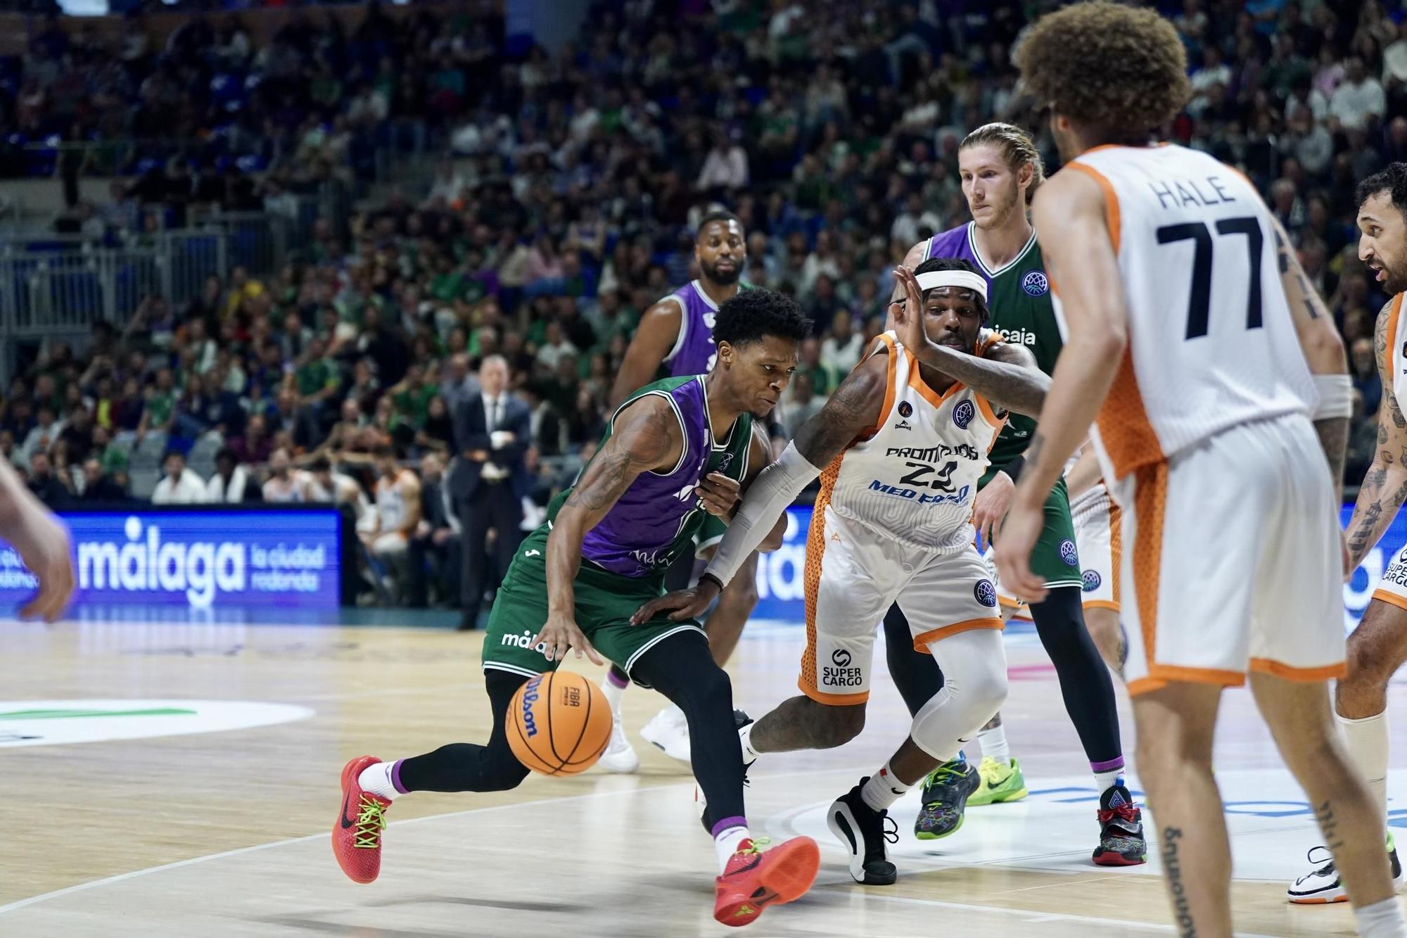
<svg viewBox="0 0 1407 938">
<path fill-rule="evenodd" d="M 1092 434 L 1123 508 L 1124 677 L 1176 930 L 1233 930 L 1211 744 L 1223 687 L 1249 682 L 1359 934 L 1407 935 L 1382 815 L 1328 706 L 1345 670 L 1342 341 L 1249 180 L 1150 144 L 1190 90 L 1166 20 L 1065 7 L 1016 59 L 1067 163 L 1033 206 L 1067 344 L 996 544 L 1002 583 L 1045 596 L 1045 496 Z"/>
</svg>

